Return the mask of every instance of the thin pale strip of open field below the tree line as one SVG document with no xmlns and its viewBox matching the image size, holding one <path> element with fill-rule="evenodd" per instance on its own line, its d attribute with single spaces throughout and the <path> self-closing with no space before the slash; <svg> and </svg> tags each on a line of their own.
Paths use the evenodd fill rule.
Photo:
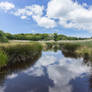
<svg viewBox="0 0 92 92">
<path fill-rule="evenodd" d="M 61 41 L 30 41 L 30 40 L 9 40 L 8 43 L 1 43 L 1 45 L 10 45 L 10 44 L 24 44 L 24 43 L 33 43 L 33 42 L 39 42 L 42 45 L 46 44 L 46 43 L 78 43 L 78 44 L 83 44 L 83 45 L 91 45 L 92 44 L 92 39 L 88 39 L 88 40 L 61 40 Z"/>
</svg>

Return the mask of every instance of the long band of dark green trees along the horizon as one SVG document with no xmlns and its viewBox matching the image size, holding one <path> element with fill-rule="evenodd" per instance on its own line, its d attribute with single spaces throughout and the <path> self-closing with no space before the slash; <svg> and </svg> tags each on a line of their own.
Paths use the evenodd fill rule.
<svg viewBox="0 0 92 92">
<path fill-rule="evenodd" d="M 83 40 L 83 39 L 86 39 L 86 38 L 69 37 L 69 36 L 65 36 L 65 35 L 57 34 L 57 33 L 53 33 L 53 34 L 47 34 L 47 33 L 11 34 L 11 33 L 4 33 L 3 31 L 0 30 L 0 42 L 7 42 L 8 40 L 32 40 L 32 41 L 54 40 L 54 41 L 59 41 L 59 40 Z"/>
</svg>

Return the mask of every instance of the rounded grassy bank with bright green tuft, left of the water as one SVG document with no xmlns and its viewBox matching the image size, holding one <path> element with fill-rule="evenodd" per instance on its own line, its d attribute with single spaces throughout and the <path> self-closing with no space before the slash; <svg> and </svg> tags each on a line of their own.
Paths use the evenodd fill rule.
<svg viewBox="0 0 92 92">
<path fill-rule="evenodd" d="M 0 44 L 0 67 L 28 61 L 41 50 L 42 46 L 37 42 Z"/>
</svg>

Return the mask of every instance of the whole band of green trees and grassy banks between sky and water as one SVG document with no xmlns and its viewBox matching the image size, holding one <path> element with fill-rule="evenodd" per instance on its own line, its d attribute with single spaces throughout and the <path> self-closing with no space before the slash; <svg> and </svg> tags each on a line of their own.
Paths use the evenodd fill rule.
<svg viewBox="0 0 92 92">
<path fill-rule="evenodd" d="M 24 62 L 39 54 L 43 49 L 53 48 L 55 51 L 59 48 L 63 53 L 74 56 L 90 57 L 92 56 L 91 41 L 66 41 L 59 40 L 83 40 L 86 38 L 67 37 L 62 34 L 10 34 L 0 31 L 0 42 L 8 42 L 8 40 L 32 40 L 48 41 L 45 43 L 29 42 L 29 43 L 2 43 L 0 44 L 0 67 L 14 64 L 16 62 Z M 49 41 L 53 40 L 53 41 Z M 56 42 L 55 42 L 56 41 Z M 68 54 L 67 54 L 68 53 Z M 86 57 L 86 58 L 87 58 Z"/>
</svg>

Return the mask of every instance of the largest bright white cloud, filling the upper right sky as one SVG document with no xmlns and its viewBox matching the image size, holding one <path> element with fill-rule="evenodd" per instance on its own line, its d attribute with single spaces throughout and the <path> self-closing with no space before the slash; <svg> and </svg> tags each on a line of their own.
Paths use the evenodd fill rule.
<svg viewBox="0 0 92 92">
<path fill-rule="evenodd" d="M 84 7 L 87 7 L 87 4 L 79 5 L 72 0 L 51 0 L 48 3 L 47 16 L 58 19 L 59 24 L 66 28 L 92 32 L 92 8 Z"/>
</svg>

